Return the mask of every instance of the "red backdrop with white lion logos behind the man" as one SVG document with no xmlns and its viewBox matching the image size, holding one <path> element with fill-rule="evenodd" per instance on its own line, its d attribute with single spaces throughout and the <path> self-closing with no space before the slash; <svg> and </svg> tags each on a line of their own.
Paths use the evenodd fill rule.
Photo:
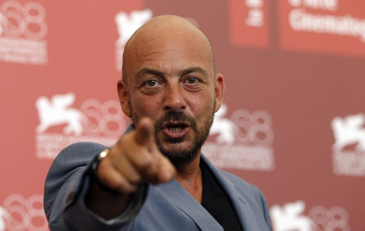
<svg viewBox="0 0 365 231">
<path fill-rule="evenodd" d="M 203 153 L 257 185 L 273 228 L 365 230 L 363 0 L 0 1 L 0 230 L 47 230 L 43 187 L 67 144 L 129 119 L 126 40 L 176 14 L 212 42 L 225 104 Z"/>
</svg>

